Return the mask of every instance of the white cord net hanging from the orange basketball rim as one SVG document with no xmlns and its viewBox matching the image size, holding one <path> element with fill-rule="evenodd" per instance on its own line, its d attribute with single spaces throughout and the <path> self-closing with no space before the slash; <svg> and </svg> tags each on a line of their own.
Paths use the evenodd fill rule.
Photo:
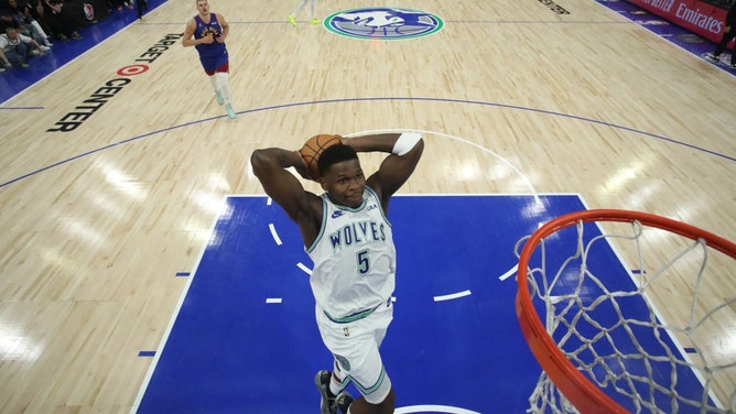
<svg viewBox="0 0 736 414">
<path fill-rule="evenodd" d="M 630 400 L 629 405 L 620 403 L 626 410 L 736 412 L 734 261 L 702 239 L 639 221 L 605 226 L 614 231 L 606 232 L 598 224 L 603 236 L 584 241 L 585 225 L 578 221 L 561 230 L 576 230 L 576 246 L 562 248 L 566 251 L 560 255 L 560 242 L 555 244 L 552 233 L 542 239 L 530 260 L 527 279 L 532 302 L 550 337 L 607 395 L 619 403 L 620 395 Z M 517 257 L 527 239 L 517 243 Z M 630 291 L 610 290 L 607 285 L 611 281 L 594 274 L 600 269 L 589 263 L 588 257 L 606 243 L 627 266 L 634 281 L 628 283 L 634 285 Z M 591 296 L 591 292 L 595 294 Z M 630 315 L 629 301 L 646 304 L 646 310 Z M 604 307 L 614 317 L 598 320 Z M 646 342 L 641 340 L 645 331 Z M 694 373 L 702 392 L 699 389 L 683 395 L 688 393 L 680 384 L 683 370 Z M 665 378 L 662 372 L 667 372 Z M 577 412 L 544 372 L 529 401 L 528 412 Z"/>
</svg>

